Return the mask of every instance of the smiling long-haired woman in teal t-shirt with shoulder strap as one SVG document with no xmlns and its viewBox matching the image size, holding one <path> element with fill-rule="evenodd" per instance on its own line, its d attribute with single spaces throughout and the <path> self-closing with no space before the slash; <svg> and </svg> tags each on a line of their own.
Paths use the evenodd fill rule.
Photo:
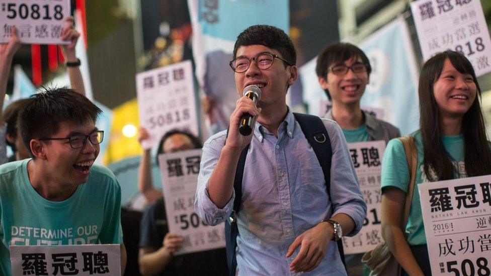
<svg viewBox="0 0 491 276">
<path fill-rule="evenodd" d="M 491 173 L 491 150 L 472 64 L 454 51 L 438 53 L 421 70 L 416 184 Z M 410 174 L 400 140 L 391 140 L 382 161 L 382 235 L 403 274 L 431 275 L 420 195 L 407 191 Z M 406 193 L 413 193 L 401 229 Z"/>
</svg>

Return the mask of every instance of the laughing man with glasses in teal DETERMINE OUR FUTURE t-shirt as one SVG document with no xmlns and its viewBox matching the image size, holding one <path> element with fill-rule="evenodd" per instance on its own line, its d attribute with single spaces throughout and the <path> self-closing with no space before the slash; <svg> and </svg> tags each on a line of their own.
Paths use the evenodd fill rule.
<svg viewBox="0 0 491 276">
<path fill-rule="evenodd" d="M 95 126 L 100 113 L 68 88 L 36 94 L 21 111 L 32 158 L 0 166 L 1 274 L 11 274 L 10 245 L 119 243 L 124 270 L 121 189 L 109 169 L 94 164 L 104 138 Z"/>
</svg>

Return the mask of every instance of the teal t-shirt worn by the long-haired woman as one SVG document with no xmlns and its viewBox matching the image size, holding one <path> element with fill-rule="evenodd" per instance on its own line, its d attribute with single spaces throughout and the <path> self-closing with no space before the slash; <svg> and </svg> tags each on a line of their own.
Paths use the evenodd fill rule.
<svg viewBox="0 0 491 276">
<path fill-rule="evenodd" d="M 418 149 L 418 166 L 416 169 L 416 185 L 413 191 L 413 202 L 409 212 L 409 219 L 405 228 L 407 242 L 410 245 L 426 244 L 425 227 L 423 225 L 423 215 L 421 213 L 420 194 L 418 185 L 423 182 L 429 182 L 423 167 L 423 142 L 420 131 L 412 134 L 416 139 Z M 454 160 L 454 166 L 457 173 L 454 178 L 466 177 L 464 163 L 464 136 L 442 136 L 443 146 Z M 404 146 L 399 139 L 392 139 L 385 148 L 382 159 L 382 179 L 381 186 L 397 187 L 407 193 L 409 187 L 410 172 L 407 167 Z"/>
</svg>

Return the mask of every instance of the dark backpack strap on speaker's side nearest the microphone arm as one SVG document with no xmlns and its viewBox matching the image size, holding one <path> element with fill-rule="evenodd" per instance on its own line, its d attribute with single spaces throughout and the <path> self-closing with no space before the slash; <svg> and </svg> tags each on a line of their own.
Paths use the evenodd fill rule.
<svg viewBox="0 0 491 276">
<path fill-rule="evenodd" d="M 235 199 L 233 200 L 233 209 L 230 217 L 225 221 L 225 243 L 227 251 L 227 264 L 230 276 L 235 276 L 237 268 L 237 260 L 235 258 L 235 248 L 237 247 L 238 227 L 235 214 L 240 209 L 242 203 L 242 177 L 244 175 L 244 166 L 246 165 L 247 152 L 249 145 L 246 146 L 240 153 L 237 168 L 235 170 L 235 178 L 233 180 L 233 190 L 235 191 Z"/>
</svg>

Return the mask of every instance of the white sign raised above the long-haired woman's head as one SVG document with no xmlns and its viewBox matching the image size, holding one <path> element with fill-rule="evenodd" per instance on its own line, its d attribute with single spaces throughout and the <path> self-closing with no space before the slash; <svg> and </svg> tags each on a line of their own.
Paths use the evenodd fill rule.
<svg viewBox="0 0 491 276">
<path fill-rule="evenodd" d="M 477 76 L 491 71 L 491 39 L 478 0 L 419 0 L 411 3 L 423 59 L 454 50 L 465 55 Z"/>
</svg>

